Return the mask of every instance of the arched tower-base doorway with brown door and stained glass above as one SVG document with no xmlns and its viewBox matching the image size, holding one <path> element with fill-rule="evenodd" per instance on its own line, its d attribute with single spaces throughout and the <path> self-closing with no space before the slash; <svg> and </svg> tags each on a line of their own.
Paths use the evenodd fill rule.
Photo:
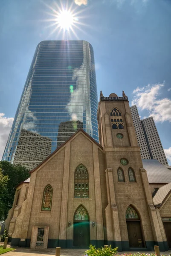
<svg viewBox="0 0 171 256">
<path fill-rule="evenodd" d="M 131 248 L 144 247 L 141 221 L 136 210 L 129 206 L 126 211 L 128 239 Z"/>
</svg>

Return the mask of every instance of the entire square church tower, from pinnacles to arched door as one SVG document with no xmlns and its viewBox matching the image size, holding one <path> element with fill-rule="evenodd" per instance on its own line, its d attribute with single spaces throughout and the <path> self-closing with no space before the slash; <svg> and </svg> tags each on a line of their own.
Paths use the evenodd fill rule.
<svg viewBox="0 0 171 256">
<path fill-rule="evenodd" d="M 157 212 L 124 91 L 121 97 L 115 93 L 104 97 L 100 93 L 98 122 L 106 166 L 107 243 L 120 250 L 130 247 L 150 250 L 159 244 L 163 250 Z"/>
</svg>

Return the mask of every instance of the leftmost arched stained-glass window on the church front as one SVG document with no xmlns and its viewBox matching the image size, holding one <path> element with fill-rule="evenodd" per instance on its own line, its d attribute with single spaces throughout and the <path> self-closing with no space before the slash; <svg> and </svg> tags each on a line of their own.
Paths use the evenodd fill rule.
<svg viewBox="0 0 171 256">
<path fill-rule="evenodd" d="M 42 211 L 51 211 L 52 207 L 52 187 L 47 185 L 43 191 Z"/>
</svg>

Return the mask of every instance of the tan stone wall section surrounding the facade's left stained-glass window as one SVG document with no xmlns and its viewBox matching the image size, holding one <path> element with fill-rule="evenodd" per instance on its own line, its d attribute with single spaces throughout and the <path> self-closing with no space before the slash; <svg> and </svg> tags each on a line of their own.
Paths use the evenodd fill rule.
<svg viewBox="0 0 171 256">
<path fill-rule="evenodd" d="M 31 238 L 33 226 L 48 226 L 49 239 L 59 238 L 64 156 L 65 148 L 59 151 L 41 169 L 35 171 L 37 174 L 27 238 Z M 53 189 L 52 210 L 50 212 L 41 211 L 43 190 L 48 184 Z"/>
</svg>

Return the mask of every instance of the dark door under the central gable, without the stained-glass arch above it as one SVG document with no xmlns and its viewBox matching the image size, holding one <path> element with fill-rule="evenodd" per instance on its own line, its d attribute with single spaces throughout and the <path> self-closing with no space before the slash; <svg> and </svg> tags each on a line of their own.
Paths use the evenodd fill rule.
<svg viewBox="0 0 171 256">
<path fill-rule="evenodd" d="M 89 244 L 89 222 L 74 222 L 74 246 L 87 248 Z"/>
</svg>

